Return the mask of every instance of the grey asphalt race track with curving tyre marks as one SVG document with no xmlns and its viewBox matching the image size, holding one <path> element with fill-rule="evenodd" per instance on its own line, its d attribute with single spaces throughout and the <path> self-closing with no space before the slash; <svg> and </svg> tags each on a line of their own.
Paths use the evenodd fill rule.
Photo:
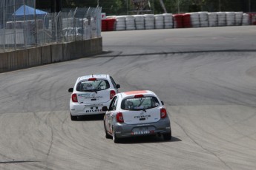
<svg viewBox="0 0 256 170">
<path fill-rule="evenodd" d="M 104 54 L 0 74 L 0 169 L 256 169 L 256 27 L 102 33 Z M 102 116 L 70 120 L 80 75 L 165 102 L 172 140 L 105 139 Z"/>
</svg>

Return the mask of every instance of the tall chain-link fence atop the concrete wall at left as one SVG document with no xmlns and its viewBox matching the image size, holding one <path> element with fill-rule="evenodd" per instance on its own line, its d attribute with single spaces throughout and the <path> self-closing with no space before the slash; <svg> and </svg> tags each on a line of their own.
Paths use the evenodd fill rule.
<svg viewBox="0 0 256 170">
<path fill-rule="evenodd" d="M 1 0 L 0 52 L 101 36 L 101 7 L 47 13 L 35 6 L 34 0 Z"/>
</svg>

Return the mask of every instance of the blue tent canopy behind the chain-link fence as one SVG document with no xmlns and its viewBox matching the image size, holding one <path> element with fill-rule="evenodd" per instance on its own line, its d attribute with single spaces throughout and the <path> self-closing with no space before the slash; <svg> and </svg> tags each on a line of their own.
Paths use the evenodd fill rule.
<svg viewBox="0 0 256 170">
<path fill-rule="evenodd" d="M 47 12 L 45 11 L 42 11 L 42 10 L 36 10 L 35 8 L 33 7 L 29 7 L 27 5 L 22 5 L 22 7 L 19 7 L 18 10 L 16 10 L 15 13 L 13 13 L 13 16 L 33 16 L 35 15 L 35 12 L 36 12 L 36 15 L 45 15 L 47 14 Z"/>
</svg>

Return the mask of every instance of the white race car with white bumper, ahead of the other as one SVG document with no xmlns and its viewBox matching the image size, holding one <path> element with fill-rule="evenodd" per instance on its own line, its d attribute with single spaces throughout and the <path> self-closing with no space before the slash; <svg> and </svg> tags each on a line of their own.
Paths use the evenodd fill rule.
<svg viewBox="0 0 256 170">
<path fill-rule="evenodd" d="M 120 88 L 110 75 L 85 75 L 77 78 L 70 96 L 70 118 L 77 120 L 82 115 L 104 114 L 103 106 L 109 106 Z"/>
</svg>

